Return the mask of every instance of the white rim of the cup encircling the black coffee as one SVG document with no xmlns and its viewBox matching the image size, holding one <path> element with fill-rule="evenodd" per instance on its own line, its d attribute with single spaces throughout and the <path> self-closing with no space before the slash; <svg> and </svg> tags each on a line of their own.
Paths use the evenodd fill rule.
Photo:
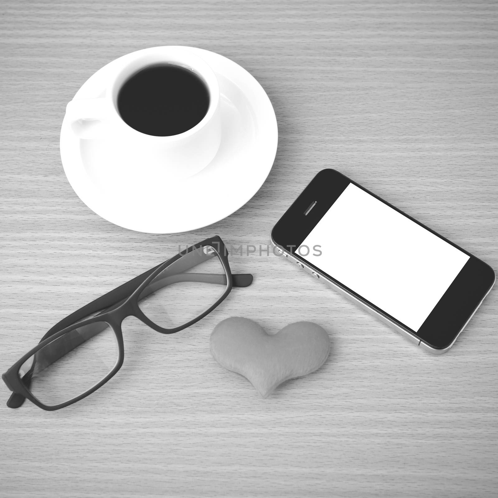
<svg viewBox="0 0 498 498">
<path fill-rule="evenodd" d="M 115 113 L 115 117 L 117 118 L 118 122 L 124 126 L 124 128 L 131 133 L 138 133 L 140 137 L 148 137 L 150 140 L 155 140 L 155 141 L 176 141 L 176 140 L 181 140 L 183 138 L 187 138 L 190 135 L 195 134 L 197 131 L 202 129 L 204 126 L 208 124 L 209 121 L 213 118 L 215 115 L 216 111 L 218 110 L 219 103 L 220 103 L 220 86 L 218 83 L 218 79 L 211 67 L 207 62 L 205 62 L 201 57 L 199 57 L 196 54 L 193 54 L 190 51 L 187 51 L 185 49 L 182 49 L 182 47 L 175 47 L 175 46 L 167 46 L 167 47 L 151 47 L 151 48 L 144 48 L 142 50 L 138 50 L 136 52 L 132 52 L 131 54 L 128 54 L 130 57 L 126 57 L 126 60 L 124 61 L 123 66 L 121 69 L 114 75 L 113 77 L 113 82 L 112 85 L 109 88 L 107 96 L 110 99 L 110 104 L 112 107 L 113 112 Z M 139 65 L 136 67 L 134 70 L 129 70 L 130 66 L 135 63 L 139 63 L 140 60 L 144 60 L 147 57 L 152 57 L 152 59 L 157 58 L 157 61 L 149 61 L 147 63 L 144 63 L 142 65 Z M 167 60 L 168 57 L 170 59 L 174 59 L 175 57 L 177 59 L 184 59 L 183 61 L 181 60 Z M 193 61 L 193 63 L 192 63 Z M 158 135 L 149 135 L 148 133 L 143 133 L 142 131 L 139 131 L 129 124 L 127 124 L 123 118 L 121 117 L 121 114 L 118 110 L 118 95 L 120 89 L 123 87 L 124 83 L 131 78 L 133 75 L 135 75 L 137 72 L 141 71 L 142 69 L 145 69 L 146 67 L 150 66 L 155 66 L 155 65 L 161 65 L 161 64 L 170 64 L 174 66 L 179 66 L 183 67 L 185 69 L 189 69 L 193 71 L 196 76 L 198 76 L 203 83 L 206 85 L 206 88 L 209 92 L 209 107 L 208 111 L 206 112 L 206 115 L 204 118 L 202 118 L 199 123 L 197 123 L 195 126 L 192 126 L 192 128 L 183 131 L 181 133 L 177 133 L 176 135 L 164 135 L 164 136 L 158 136 Z"/>
</svg>

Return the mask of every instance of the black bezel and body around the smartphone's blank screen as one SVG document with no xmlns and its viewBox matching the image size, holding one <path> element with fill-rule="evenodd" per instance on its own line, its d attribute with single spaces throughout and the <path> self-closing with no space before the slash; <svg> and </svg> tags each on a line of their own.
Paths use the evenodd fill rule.
<svg viewBox="0 0 498 498">
<path fill-rule="evenodd" d="M 417 332 L 375 306 L 375 304 L 356 293 L 353 289 L 348 288 L 321 268 L 310 263 L 296 252 L 304 239 L 315 228 L 350 183 L 361 188 L 375 199 L 469 256 L 467 263 Z M 315 201 L 317 201 L 317 204 L 305 216 L 304 212 Z M 334 169 L 323 169 L 313 178 L 292 206 L 277 222 L 271 232 L 271 239 L 276 246 L 301 261 L 303 265 L 311 268 L 317 274 L 323 275 L 398 327 L 420 339 L 429 348 L 435 350 L 446 350 L 451 347 L 484 297 L 493 287 L 496 279 L 494 270 L 487 263 Z"/>
</svg>

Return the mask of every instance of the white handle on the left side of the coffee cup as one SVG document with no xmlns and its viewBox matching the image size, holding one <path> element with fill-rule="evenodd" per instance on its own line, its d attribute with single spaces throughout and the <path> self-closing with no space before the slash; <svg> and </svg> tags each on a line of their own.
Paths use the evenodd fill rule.
<svg viewBox="0 0 498 498">
<path fill-rule="evenodd" d="M 79 138 L 100 138 L 109 131 L 107 99 L 75 99 L 66 106 L 66 118 Z"/>
</svg>

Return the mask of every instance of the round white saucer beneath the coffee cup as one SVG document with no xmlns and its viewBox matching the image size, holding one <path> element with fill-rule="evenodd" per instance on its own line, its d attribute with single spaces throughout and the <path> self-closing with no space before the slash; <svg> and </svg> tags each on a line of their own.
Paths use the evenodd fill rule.
<svg viewBox="0 0 498 498">
<path fill-rule="evenodd" d="M 95 213 L 121 227 L 156 234 L 188 232 L 226 218 L 244 206 L 264 183 L 275 159 L 275 113 L 261 85 L 222 55 L 188 47 L 215 72 L 221 93 L 222 142 L 213 161 L 182 180 L 157 181 L 123 191 L 93 172 L 112 157 L 105 140 L 75 136 L 67 120 L 61 128 L 64 172 L 78 197 Z M 119 60 L 119 59 L 116 59 Z M 75 98 L 102 97 L 110 62 L 91 76 Z M 138 170 L 139 171 L 139 170 Z"/>
</svg>

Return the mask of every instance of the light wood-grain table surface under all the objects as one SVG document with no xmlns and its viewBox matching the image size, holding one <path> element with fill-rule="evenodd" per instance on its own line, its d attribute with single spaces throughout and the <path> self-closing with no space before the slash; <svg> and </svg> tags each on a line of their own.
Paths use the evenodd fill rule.
<svg viewBox="0 0 498 498">
<path fill-rule="evenodd" d="M 496 1 L 13 1 L 0 12 L 0 370 L 61 317 L 219 234 L 265 246 L 334 167 L 498 268 Z M 245 67 L 273 103 L 278 151 L 227 219 L 176 235 L 99 218 L 59 156 L 66 103 L 128 52 L 191 45 Z M 273 255 L 254 283 L 172 336 L 124 322 L 108 384 L 56 412 L 0 405 L 2 497 L 488 497 L 498 492 L 497 290 L 431 356 Z M 211 357 L 229 316 L 311 320 L 332 353 L 259 399 Z M 3 385 L 3 384 L 2 384 Z"/>
</svg>

